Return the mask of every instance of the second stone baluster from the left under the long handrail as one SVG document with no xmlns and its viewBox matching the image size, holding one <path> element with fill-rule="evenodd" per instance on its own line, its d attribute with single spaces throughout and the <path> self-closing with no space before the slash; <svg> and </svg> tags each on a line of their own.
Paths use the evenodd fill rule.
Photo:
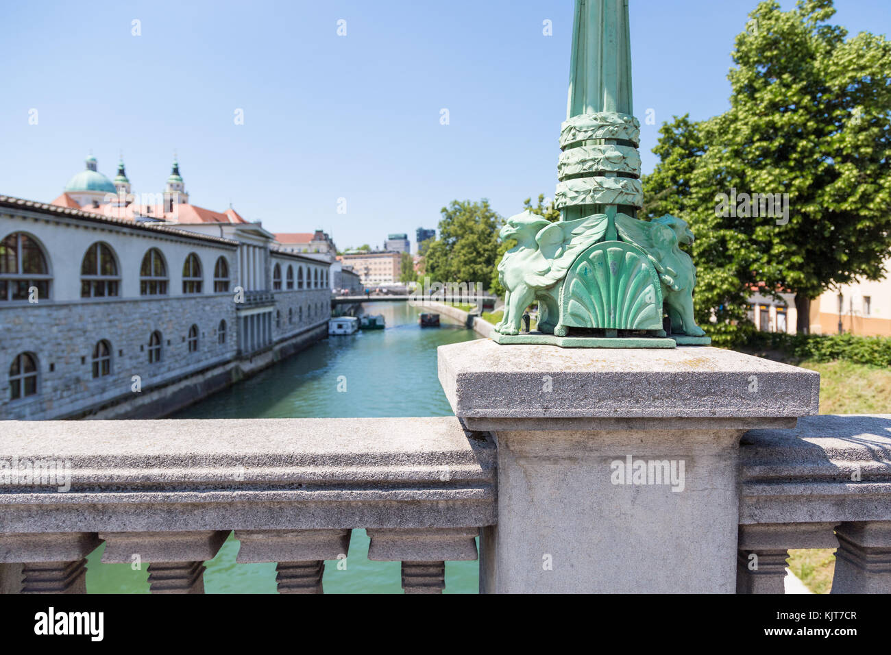
<svg viewBox="0 0 891 655">
<path fill-rule="evenodd" d="M 106 532 L 102 561 L 148 563 L 152 594 L 204 594 L 204 562 L 214 559 L 229 533 L 225 530 L 185 532 Z"/>
</svg>

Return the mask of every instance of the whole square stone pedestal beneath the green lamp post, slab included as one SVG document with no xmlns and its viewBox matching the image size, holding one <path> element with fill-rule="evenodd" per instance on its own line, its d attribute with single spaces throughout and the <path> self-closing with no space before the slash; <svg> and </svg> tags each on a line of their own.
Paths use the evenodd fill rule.
<svg viewBox="0 0 891 655">
<path fill-rule="evenodd" d="M 498 444 L 487 593 L 736 590 L 745 430 L 817 412 L 819 375 L 718 348 L 439 348 L 439 380 Z"/>
</svg>

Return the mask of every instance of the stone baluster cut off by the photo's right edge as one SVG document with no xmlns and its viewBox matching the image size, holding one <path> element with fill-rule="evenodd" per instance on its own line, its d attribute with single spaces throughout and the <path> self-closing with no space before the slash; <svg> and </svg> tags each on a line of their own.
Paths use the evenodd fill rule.
<svg viewBox="0 0 891 655">
<path fill-rule="evenodd" d="M 832 594 L 891 594 L 891 521 L 865 520 L 836 528 Z"/>
</svg>

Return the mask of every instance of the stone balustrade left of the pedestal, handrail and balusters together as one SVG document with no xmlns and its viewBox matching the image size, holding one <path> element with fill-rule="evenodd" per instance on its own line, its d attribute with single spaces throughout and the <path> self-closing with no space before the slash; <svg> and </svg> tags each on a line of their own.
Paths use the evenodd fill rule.
<svg viewBox="0 0 891 655">
<path fill-rule="evenodd" d="M 403 562 L 406 593 L 436 593 L 495 520 L 495 447 L 454 417 L 2 425 L 6 593 L 83 593 L 104 542 L 102 561 L 149 564 L 152 593 L 200 594 L 234 530 L 237 561 L 277 562 L 280 593 L 319 594 L 353 528 L 370 559 Z M 37 484 L 21 475 L 35 465 Z"/>
</svg>

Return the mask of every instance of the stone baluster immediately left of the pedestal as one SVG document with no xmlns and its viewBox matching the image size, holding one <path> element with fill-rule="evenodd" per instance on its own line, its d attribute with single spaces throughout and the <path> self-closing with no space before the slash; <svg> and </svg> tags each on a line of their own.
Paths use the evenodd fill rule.
<svg viewBox="0 0 891 655">
<path fill-rule="evenodd" d="M 477 559 L 478 528 L 369 528 L 368 559 L 401 561 L 405 594 L 441 594 L 446 561 Z"/>
</svg>

